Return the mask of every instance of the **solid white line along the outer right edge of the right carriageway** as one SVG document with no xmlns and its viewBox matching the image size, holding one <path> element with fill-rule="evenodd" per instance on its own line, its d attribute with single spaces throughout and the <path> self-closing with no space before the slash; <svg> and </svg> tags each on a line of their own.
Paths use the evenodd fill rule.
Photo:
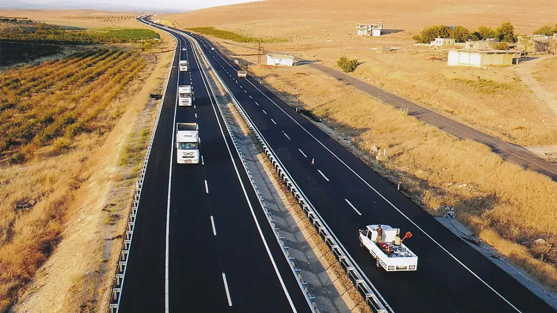
<svg viewBox="0 0 557 313">
<path fill-rule="evenodd" d="M 220 54 L 219 54 L 220 56 Z M 222 56 L 221 56 L 222 58 Z M 487 282 L 483 279 L 481 279 L 480 276 L 478 276 L 474 271 L 472 271 L 468 266 L 466 266 L 462 261 L 458 260 L 458 258 L 456 256 L 454 256 L 453 254 L 451 254 L 451 252 L 449 252 L 447 249 L 445 249 L 445 247 L 443 247 L 441 244 L 439 244 L 439 242 L 437 242 L 437 240 L 433 239 L 433 237 L 431 235 L 429 235 L 426 231 L 424 231 L 422 229 L 422 227 L 419 227 L 414 221 L 411 220 L 411 218 L 409 218 L 407 215 L 405 215 L 402 211 L 399 210 L 398 207 L 396 207 L 395 205 L 393 205 L 392 202 L 390 202 L 389 200 L 387 200 L 387 198 L 385 198 L 379 191 L 377 191 L 372 185 L 370 185 L 366 180 L 364 180 L 363 177 L 361 177 L 360 175 L 358 175 L 358 173 L 356 173 L 350 166 L 348 166 L 348 164 L 346 164 L 343 160 L 341 160 L 338 156 L 335 155 L 335 153 L 333 153 L 333 151 L 329 150 L 328 147 L 326 147 L 323 142 L 319 141 L 314 135 L 312 135 L 308 130 L 306 130 L 306 128 L 302 125 L 300 125 L 300 123 L 298 123 L 292 116 L 290 116 L 288 113 L 286 113 L 286 111 L 284 111 L 280 106 L 277 105 L 277 103 L 275 101 L 272 101 L 271 98 L 267 97 L 267 95 L 265 95 L 265 93 L 263 93 L 259 88 L 257 88 L 257 86 L 253 85 L 252 82 L 250 82 L 249 80 L 246 80 L 247 82 L 249 82 L 253 87 L 255 87 L 259 92 L 261 92 L 261 94 L 263 96 L 265 96 L 269 101 L 271 101 L 273 104 L 275 104 L 276 107 L 278 107 L 283 113 L 285 113 L 286 116 L 290 117 L 290 119 L 292 121 L 294 121 L 298 126 L 300 126 L 302 128 L 302 130 L 304 130 L 305 132 L 307 132 L 312 138 L 315 139 L 315 141 L 319 142 L 319 144 L 321 146 L 323 146 L 325 148 L 325 150 L 329 151 L 329 153 L 331 153 L 331 155 L 333 155 L 337 160 L 339 160 L 341 163 L 343 163 L 344 166 L 346 166 L 346 168 L 348 168 L 351 172 L 354 173 L 354 175 L 356 175 L 358 178 L 360 178 L 361 181 L 363 181 L 365 183 L 365 185 L 367 185 L 369 188 L 371 188 L 375 193 L 377 193 L 380 197 L 383 198 L 383 200 L 385 200 L 387 203 L 389 203 L 390 206 L 392 206 L 395 210 L 397 210 L 400 215 L 404 216 L 404 218 L 406 218 L 409 222 L 412 223 L 412 225 L 414 225 L 416 228 L 418 228 L 422 233 L 424 233 L 424 235 L 426 235 L 429 239 L 431 239 L 439 248 L 441 248 L 443 251 L 445 251 L 449 256 L 451 256 L 451 258 L 455 261 L 458 262 L 458 264 L 460 264 L 462 267 L 464 267 L 468 272 L 470 272 L 470 274 L 472 274 L 474 277 L 476 277 L 479 281 L 482 282 L 483 285 L 485 285 L 486 287 L 488 287 L 488 289 L 490 289 L 491 291 L 493 291 L 497 296 L 499 296 L 502 300 L 504 300 L 507 304 L 509 304 L 513 309 L 515 309 L 517 312 L 522 313 L 522 311 L 520 311 L 516 306 L 514 306 L 509 300 L 507 300 L 503 295 L 501 295 L 499 292 L 497 292 L 497 290 L 494 289 L 494 287 L 491 287 L 489 284 L 487 284 Z M 367 278 L 367 277 L 366 277 Z"/>
</svg>

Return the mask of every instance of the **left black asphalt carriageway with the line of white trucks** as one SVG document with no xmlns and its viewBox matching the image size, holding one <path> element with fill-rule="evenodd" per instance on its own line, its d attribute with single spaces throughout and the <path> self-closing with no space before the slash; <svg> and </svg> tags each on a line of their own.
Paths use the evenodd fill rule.
<svg viewBox="0 0 557 313">
<path fill-rule="evenodd" d="M 179 44 L 146 168 L 119 312 L 311 312 L 191 44 Z M 182 48 L 185 48 L 185 51 Z M 188 72 L 178 72 L 187 59 Z M 177 85 L 194 106 L 177 106 Z M 176 163 L 177 122 L 197 122 L 202 161 Z"/>
</svg>

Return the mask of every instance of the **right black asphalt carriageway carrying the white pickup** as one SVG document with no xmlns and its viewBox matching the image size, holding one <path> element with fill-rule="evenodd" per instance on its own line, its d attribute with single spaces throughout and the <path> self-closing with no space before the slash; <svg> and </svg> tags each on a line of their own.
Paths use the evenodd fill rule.
<svg viewBox="0 0 557 313">
<path fill-rule="evenodd" d="M 192 34 L 282 165 L 393 311 L 555 312 L 453 235 L 371 168 Z M 315 164 L 311 164 L 315 160 Z M 411 231 L 416 272 L 387 273 L 359 246 L 358 229 L 382 223 Z"/>
</svg>

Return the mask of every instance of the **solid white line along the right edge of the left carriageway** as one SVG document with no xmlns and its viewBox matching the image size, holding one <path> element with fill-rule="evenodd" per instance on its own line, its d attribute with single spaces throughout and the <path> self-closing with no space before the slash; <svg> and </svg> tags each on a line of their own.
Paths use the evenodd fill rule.
<svg viewBox="0 0 557 313">
<path fill-rule="evenodd" d="M 193 40 L 195 40 L 195 39 L 193 39 Z M 200 63 L 197 59 L 198 57 L 199 56 L 196 54 L 196 62 Z M 203 71 L 200 71 L 200 73 L 202 73 L 201 77 L 203 78 L 204 77 Z M 273 268 L 275 269 L 275 273 L 277 275 L 278 281 L 280 282 L 280 284 L 282 286 L 282 290 L 284 291 L 284 294 L 286 295 L 286 299 L 288 300 L 288 302 L 290 304 L 292 312 L 297 313 L 296 307 L 294 306 L 294 302 L 292 302 L 292 298 L 290 297 L 290 293 L 286 289 L 286 285 L 284 283 L 284 280 L 282 280 L 282 276 L 281 276 L 280 272 L 278 271 L 278 267 L 276 265 L 275 259 L 273 258 L 272 254 L 271 254 L 271 250 L 269 249 L 269 246 L 267 244 L 267 240 L 265 240 L 265 236 L 263 236 L 263 231 L 261 230 L 261 226 L 259 225 L 259 221 L 257 220 L 257 217 L 255 216 L 255 211 L 253 211 L 253 206 L 251 205 L 250 198 L 247 195 L 246 187 L 244 186 L 244 184 L 242 182 L 242 178 L 240 177 L 240 172 L 238 171 L 238 167 L 236 166 L 236 163 L 234 162 L 234 157 L 232 156 L 232 151 L 230 150 L 228 142 L 226 141 L 226 137 L 224 136 L 224 131 L 222 129 L 221 121 L 218 120 L 218 116 L 217 116 L 218 113 L 217 113 L 216 108 L 214 107 L 214 102 L 213 102 L 213 99 L 211 98 L 211 93 L 209 92 L 209 88 L 207 87 L 207 83 L 205 82 L 205 79 L 203 79 L 203 84 L 205 85 L 205 88 L 207 90 L 207 94 L 209 95 L 209 100 L 211 100 L 211 105 L 213 107 L 213 112 L 215 114 L 214 117 L 217 119 L 218 127 L 221 130 L 221 135 L 224 139 L 224 143 L 226 144 L 226 148 L 228 150 L 228 155 L 230 156 L 230 160 L 232 162 L 232 165 L 234 166 L 234 170 L 236 171 L 236 176 L 238 177 L 238 181 L 240 181 L 240 186 L 242 187 L 242 191 L 243 191 L 244 197 L 246 198 L 247 205 L 250 207 L 251 216 L 253 217 L 253 221 L 255 221 L 255 225 L 257 226 L 257 231 L 259 232 L 261 240 L 263 241 L 263 246 L 265 246 L 265 250 L 267 251 L 267 255 L 269 256 L 269 259 L 271 260 L 271 264 L 273 265 Z M 228 136 L 230 138 L 232 138 L 232 134 L 230 132 L 228 132 L 228 130 L 227 130 L 227 133 L 228 133 Z"/>
</svg>

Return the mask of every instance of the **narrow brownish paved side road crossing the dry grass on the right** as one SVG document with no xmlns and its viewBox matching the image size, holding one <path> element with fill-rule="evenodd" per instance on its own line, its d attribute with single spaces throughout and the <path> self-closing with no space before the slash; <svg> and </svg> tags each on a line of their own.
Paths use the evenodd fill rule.
<svg viewBox="0 0 557 313">
<path fill-rule="evenodd" d="M 296 61 L 306 61 L 301 58 L 296 58 Z M 382 90 L 379 87 L 370 85 L 363 82 L 358 78 L 352 77 L 336 69 L 326 67 L 322 64 L 308 63 L 307 66 L 318 69 L 319 71 L 328 74 L 337 80 L 346 83 L 360 91 L 367 93 L 380 101 L 387 103 L 398 109 L 408 109 L 408 115 L 414 116 L 429 125 L 435 126 L 442 131 L 448 132 L 453 136 L 461 139 L 471 139 L 491 148 L 492 151 L 499 154 L 504 160 L 514 162 L 524 168 L 529 168 L 532 171 L 543 173 L 554 181 L 557 181 L 557 165 L 545 160 L 541 160 L 534 154 L 530 153 L 523 147 L 513 145 L 512 143 L 500 140 L 487 133 L 466 126 L 463 123 L 452 120 L 451 118 L 442 115 L 436 111 L 429 110 L 426 107 L 418 105 L 415 102 L 406 100 L 402 97 L 394 95 L 393 93 Z"/>
</svg>

